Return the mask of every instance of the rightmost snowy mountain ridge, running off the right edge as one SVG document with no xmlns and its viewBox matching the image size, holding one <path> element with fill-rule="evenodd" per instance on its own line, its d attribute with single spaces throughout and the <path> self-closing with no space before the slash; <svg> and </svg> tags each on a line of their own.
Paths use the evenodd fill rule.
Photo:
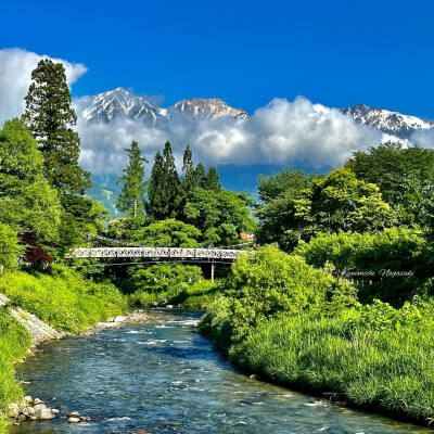
<svg viewBox="0 0 434 434">
<path fill-rule="evenodd" d="M 416 116 L 403 115 L 398 112 L 390 112 L 383 108 L 374 108 L 365 104 L 342 108 L 342 113 L 353 116 L 359 124 L 405 139 L 409 138 L 416 130 L 434 127 L 432 120 L 423 120 Z"/>
</svg>

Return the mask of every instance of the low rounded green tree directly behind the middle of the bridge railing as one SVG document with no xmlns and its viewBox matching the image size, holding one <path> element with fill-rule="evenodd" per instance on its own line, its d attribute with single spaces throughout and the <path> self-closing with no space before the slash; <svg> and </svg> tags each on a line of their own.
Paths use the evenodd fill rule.
<svg viewBox="0 0 434 434">
<path fill-rule="evenodd" d="M 132 240 L 156 247 L 200 247 L 201 231 L 194 226 L 175 219 L 155 221 L 138 229 Z"/>
</svg>

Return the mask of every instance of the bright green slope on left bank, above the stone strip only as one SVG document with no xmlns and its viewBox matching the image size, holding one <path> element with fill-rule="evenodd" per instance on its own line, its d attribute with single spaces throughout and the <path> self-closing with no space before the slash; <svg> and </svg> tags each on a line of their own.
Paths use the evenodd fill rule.
<svg viewBox="0 0 434 434">
<path fill-rule="evenodd" d="M 126 304 L 113 284 L 85 280 L 66 267 L 50 270 L 35 276 L 8 272 L 0 278 L 0 292 L 54 329 L 74 333 L 125 311 Z"/>
</svg>

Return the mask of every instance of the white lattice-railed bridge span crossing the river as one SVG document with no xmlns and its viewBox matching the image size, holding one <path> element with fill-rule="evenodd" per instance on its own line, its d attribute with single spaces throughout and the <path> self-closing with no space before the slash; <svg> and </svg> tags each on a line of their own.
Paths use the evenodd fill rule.
<svg viewBox="0 0 434 434">
<path fill-rule="evenodd" d="M 167 258 L 234 261 L 246 251 L 182 247 L 80 247 L 68 258 Z"/>
</svg>

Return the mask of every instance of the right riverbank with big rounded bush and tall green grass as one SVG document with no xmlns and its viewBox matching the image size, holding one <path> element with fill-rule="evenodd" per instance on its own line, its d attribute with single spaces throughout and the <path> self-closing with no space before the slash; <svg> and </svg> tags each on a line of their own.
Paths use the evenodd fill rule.
<svg viewBox="0 0 434 434">
<path fill-rule="evenodd" d="M 201 320 L 240 369 L 429 424 L 434 302 L 361 305 L 355 288 L 272 247 L 242 257 Z"/>
</svg>

